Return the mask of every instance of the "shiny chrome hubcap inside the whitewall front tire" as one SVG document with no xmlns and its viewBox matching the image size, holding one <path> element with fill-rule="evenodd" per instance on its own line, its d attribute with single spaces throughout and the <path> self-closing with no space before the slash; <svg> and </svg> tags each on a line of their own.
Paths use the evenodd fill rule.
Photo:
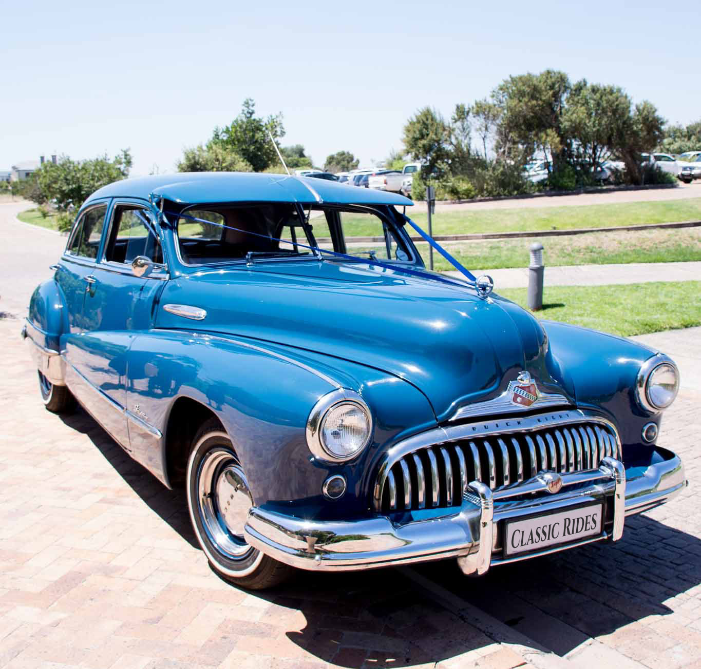
<svg viewBox="0 0 701 669">
<path fill-rule="evenodd" d="M 253 502 L 246 476 L 228 448 L 207 453 L 198 471 L 200 518 L 212 544 L 226 558 L 242 560 L 252 553 L 243 526 Z"/>
</svg>

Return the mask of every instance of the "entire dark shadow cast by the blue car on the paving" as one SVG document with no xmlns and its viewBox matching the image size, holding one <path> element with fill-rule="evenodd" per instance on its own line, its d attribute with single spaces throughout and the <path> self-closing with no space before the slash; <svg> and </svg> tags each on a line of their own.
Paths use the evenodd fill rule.
<svg viewBox="0 0 701 669">
<path fill-rule="evenodd" d="M 144 503 L 199 548 L 182 491 L 165 488 L 82 408 L 61 418 L 86 434 Z M 565 656 L 590 637 L 647 616 L 672 614 L 665 602 L 701 582 L 701 539 L 649 516 L 633 516 L 615 544 L 589 544 L 493 567 L 478 579 L 463 576 L 454 560 L 414 570 Z M 342 667 L 438 663 L 494 643 L 391 568 L 338 574 L 297 570 L 284 584 L 252 594 L 271 605 L 271 619 L 287 630 L 288 640 Z"/>
</svg>

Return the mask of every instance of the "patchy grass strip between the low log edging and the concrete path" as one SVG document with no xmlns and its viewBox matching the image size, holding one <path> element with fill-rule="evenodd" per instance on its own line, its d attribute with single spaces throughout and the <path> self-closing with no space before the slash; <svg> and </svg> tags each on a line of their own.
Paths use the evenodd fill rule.
<svg viewBox="0 0 701 669">
<path fill-rule="evenodd" d="M 442 246 L 465 267 L 495 269 L 526 267 L 529 247 L 543 243 L 547 265 L 601 265 L 701 261 L 701 227 L 674 230 L 626 230 L 566 237 L 526 237 L 518 240 L 443 242 Z M 428 244 L 416 244 L 428 265 Z M 378 247 L 379 248 L 379 247 Z M 437 270 L 454 269 L 434 253 Z"/>
</svg>

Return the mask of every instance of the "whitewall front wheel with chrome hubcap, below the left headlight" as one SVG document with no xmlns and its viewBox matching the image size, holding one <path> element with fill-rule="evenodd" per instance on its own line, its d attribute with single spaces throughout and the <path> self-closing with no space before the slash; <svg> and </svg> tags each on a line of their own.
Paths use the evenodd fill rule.
<svg viewBox="0 0 701 669">
<path fill-rule="evenodd" d="M 207 420 L 193 439 L 186 488 L 197 540 L 221 577 L 263 590 L 289 576 L 291 567 L 254 549 L 243 536 L 253 501 L 231 439 L 216 418 Z"/>
</svg>

